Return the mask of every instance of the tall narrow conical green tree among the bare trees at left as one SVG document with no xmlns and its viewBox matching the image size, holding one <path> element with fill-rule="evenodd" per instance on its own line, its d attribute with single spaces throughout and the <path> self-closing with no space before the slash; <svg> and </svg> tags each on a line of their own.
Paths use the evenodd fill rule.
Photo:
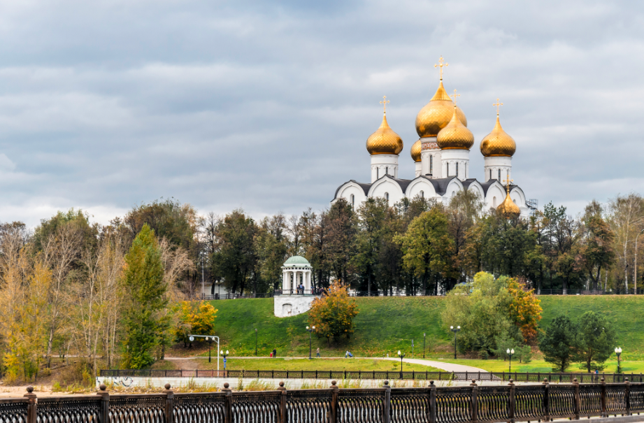
<svg viewBox="0 0 644 423">
<path fill-rule="evenodd" d="M 123 364 L 126 368 L 144 368 L 155 361 L 152 353 L 169 329 L 169 320 L 162 313 L 168 300 L 161 252 L 155 232 L 147 224 L 134 238 L 125 263 L 122 289 L 129 304 L 123 315 Z"/>
</svg>

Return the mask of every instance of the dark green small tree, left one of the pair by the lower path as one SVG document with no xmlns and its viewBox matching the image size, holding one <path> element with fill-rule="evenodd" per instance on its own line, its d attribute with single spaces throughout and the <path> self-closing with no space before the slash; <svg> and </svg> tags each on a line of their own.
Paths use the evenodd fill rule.
<svg viewBox="0 0 644 423">
<path fill-rule="evenodd" d="M 554 371 L 564 372 L 571 364 L 575 332 L 577 327 L 568 316 L 554 317 L 545 332 L 539 339 L 539 350 L 543 352 L 543 359 L 552 364 Z"/>
</svg>

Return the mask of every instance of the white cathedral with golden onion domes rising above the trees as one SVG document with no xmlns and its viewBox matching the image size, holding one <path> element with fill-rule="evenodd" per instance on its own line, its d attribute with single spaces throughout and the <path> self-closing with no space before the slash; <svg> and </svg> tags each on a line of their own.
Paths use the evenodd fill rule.
<svg viewBox="0 0 644 423">
<path fill-rule="evenodd" d="M 411 146 L 415 178 L 399 175 L 398 158 L 403 140 L 387 124 L 387 99 L 383 99 L 382 124 L 367 138 L 366 150 L 371 155 L 371 182 L 350 180 L 336 190 L 334 201 L 343 198 L 358 207 L 368 197 L 384 197 L 389 204 L 403 197 L 421 196 L 447 204 L 461 189 L 475 192 L 486 208 L 497 208 L 506 215 L 527 217 L 531 203 L 523 190 L 512 185 L 512 157 L 517 150 L 514 139 L 503 131 L 499 121 L 499 99 L 496 100 L 496 124 L 480 142 L 485 158 L 484 180 L 470 177 L 470 149 L 474 135 L 467 129 L 467 118 L 443 87 L 443 57 L 438 67 L 440 83 L 436 94 L 416 115 L 416 132 L 420 137 Z M 453 97 L 453 99 L 452 99 Z"/>
</svg>

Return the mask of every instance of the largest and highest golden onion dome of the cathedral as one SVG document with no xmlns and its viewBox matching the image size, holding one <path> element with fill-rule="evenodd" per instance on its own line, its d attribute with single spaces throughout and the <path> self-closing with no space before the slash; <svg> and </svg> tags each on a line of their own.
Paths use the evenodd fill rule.
<svg viewBox="0 0 644 423">
<path fill-rule="evenodd" d="M 467 126 L 467 118 L 463 110 L 457 107 L 457 113 L 461 122 Z M 443 87 L 443 81 L 441 80 L 441 83 L 438 84 L 438 89 L 436 89 L 436 94 L 416 115 L 416 132 L 418 136 L 420 138 L 437 136 L 438 132 L 448 125 L 452 114 L 454 114 L 454 102 L 445 92 L 445 87 Z"/>
</svg>

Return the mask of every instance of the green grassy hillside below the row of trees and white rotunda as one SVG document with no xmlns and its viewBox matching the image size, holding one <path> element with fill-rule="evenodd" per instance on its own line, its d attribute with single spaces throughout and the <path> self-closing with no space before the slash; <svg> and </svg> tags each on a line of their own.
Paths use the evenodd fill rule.
<svg viewBox="0 0 644 423">
<path fill-rule="evenodd" d="M 587 310 L 606 313 L 617 329 L 617 340 L 624 349 L 624 359 L 644 359 L 644 296 L 541 296 L 542 327 L 554 316 L 567 313 L 577 317 Z M 431 357 L 447 357 L 451 334 L 441 328 L 443 298 L 378 297 L 358 298 L 359 315 L 355 334 L 333 347 L 313 336 L 313 350 L 320 347 L 323 357 L 341 357 L 345 350 L 357 356 L 382 357 L 403 350 L 412 357 L 422 357 L 423 333 L 434 344 Z M 276 348 L 278 356 L 308 356 L 306 313 L 278 318 L 273 315 L 273 299 L 213 301 L 217 313 L 216 332 L 224 350 L 231 355 L 255 354 L 255 331 L 259 356 L 268 356 Z"/>
</svg>

